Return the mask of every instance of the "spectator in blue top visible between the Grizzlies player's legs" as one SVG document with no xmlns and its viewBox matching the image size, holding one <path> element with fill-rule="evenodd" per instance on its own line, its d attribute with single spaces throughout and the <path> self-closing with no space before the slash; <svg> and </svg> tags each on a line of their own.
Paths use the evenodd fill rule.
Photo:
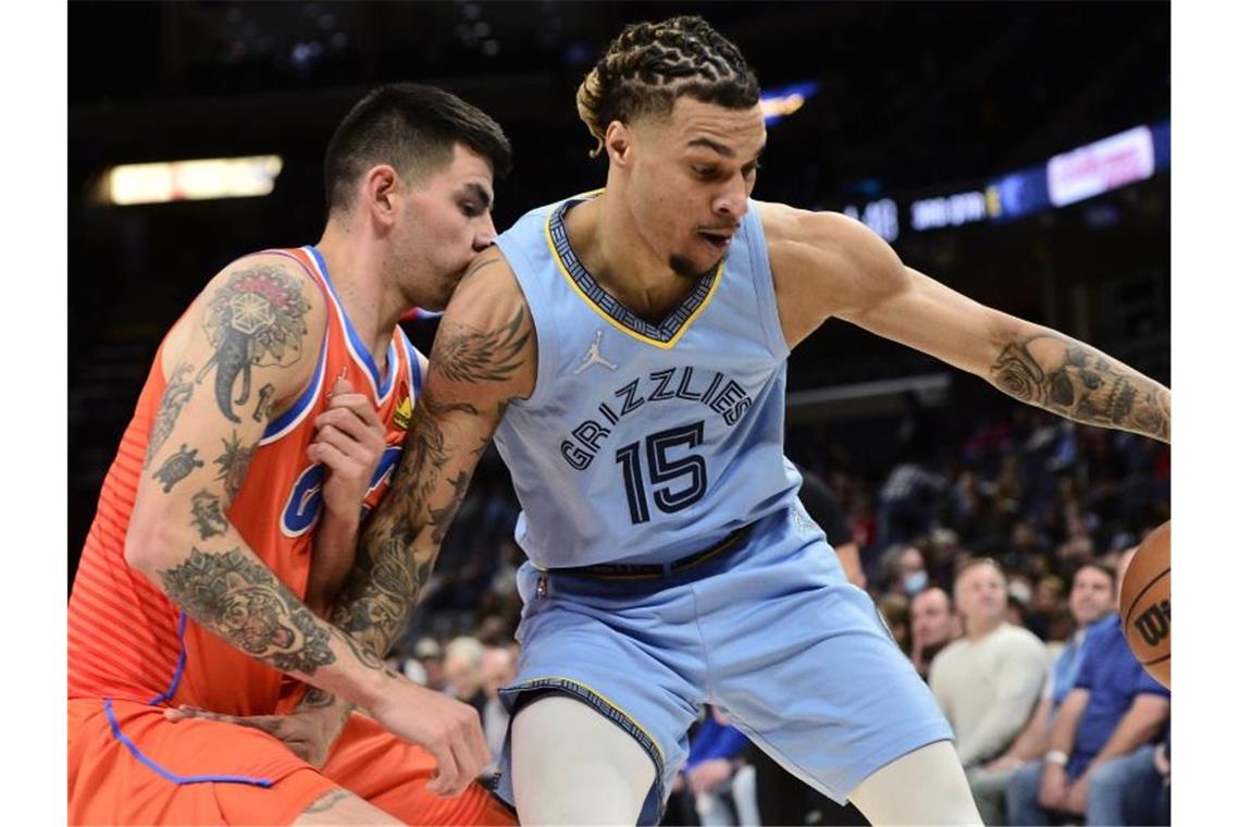
<svg viewBox="0 0 1240 827">
<path fill-rule="evenodd" d="M 706 718 L 689 741 L 684 784 L 703 827 L 760 825 L 754 767 L 745 754 L 749 740 L 718 710 Z"/>
</svg>

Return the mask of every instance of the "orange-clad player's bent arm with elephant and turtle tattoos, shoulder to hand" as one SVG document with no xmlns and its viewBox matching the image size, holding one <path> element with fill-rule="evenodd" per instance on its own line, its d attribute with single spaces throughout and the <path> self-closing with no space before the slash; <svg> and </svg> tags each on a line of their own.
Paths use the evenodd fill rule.
<svg viewBox="0 0 1240 827">
<path fill-rule="evenodd" d="M 226 642 L 366 705 L 393 733 L 427 746 L 439 760 L 436 789 L 455 794 L 487 760 L 477 714 L 396 676 L 316 617 L 227 517 L 272 402 L 278 409 L 305 387 L 325 324 L 317 288 L 280 257 L 242 259 L 212 280 L 165 342 L 175 367 L 125 559 Z"/>
</svg>

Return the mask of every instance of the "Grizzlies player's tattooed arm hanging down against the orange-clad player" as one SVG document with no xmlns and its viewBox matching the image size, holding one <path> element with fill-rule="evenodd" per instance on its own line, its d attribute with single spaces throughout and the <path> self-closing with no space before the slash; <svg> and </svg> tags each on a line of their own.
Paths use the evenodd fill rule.
<svg viewBox="0 0 1240 827">
<path fill-rule="evenodd" d="M 497 248 L 475 259 L 439 324 L 392 487 L 362 532 L 332 620 L 374 652 L 404 630 L 508 402 L 537 376 L 533 321 Z"/>
</svg>

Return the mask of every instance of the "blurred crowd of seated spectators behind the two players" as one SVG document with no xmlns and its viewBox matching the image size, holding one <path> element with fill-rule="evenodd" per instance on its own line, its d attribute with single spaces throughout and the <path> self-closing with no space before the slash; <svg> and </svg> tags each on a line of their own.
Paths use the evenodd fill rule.
<svg viewBox="0 0 1240 827">
<path fill-rule="evenodd" d="M 952 724 L 983 821 L 1168 825 L 1169 692 L 1116 608 L 1126 552 L 1171 516 L 1169 449 L 1023 407 L 955 440 L 905 425 L 885 470 L 836 446 L 802 467 L 801 498 Z M 474 704 L 492 753 L 520 656 L 517 513 L 491 456 L 392 657 Z M 867 822 L 708 708 L 663 823 Z"/>
</svg>

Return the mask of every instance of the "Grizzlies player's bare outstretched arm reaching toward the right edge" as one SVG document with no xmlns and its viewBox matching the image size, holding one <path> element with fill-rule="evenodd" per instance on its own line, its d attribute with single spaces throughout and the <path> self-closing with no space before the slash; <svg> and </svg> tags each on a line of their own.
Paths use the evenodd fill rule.
<svg viewBox="0 0 1240 827">
<path fill-rule="evenodd" d="M 1171 441 L 1171 391 L 1153 379 L 904 267 L 859 222 L 784 205 L 759 208 L 790 346 L 839 316 L 975 373 L 1022 402 Z"/>
</svg>

